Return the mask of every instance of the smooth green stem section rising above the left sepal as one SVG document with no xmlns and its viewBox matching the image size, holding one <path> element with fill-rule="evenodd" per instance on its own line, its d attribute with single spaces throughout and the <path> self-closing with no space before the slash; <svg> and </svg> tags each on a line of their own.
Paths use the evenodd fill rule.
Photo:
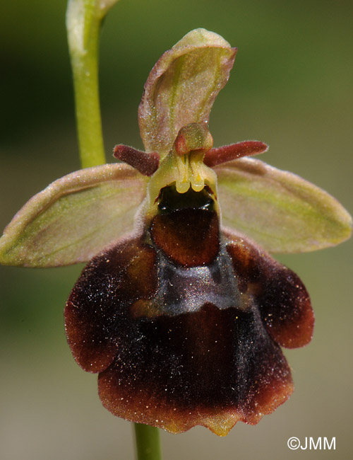
<svg viewBox="0 0 353 460">
<path fill-rule="evenodd" d="M 83 168 L 105 163 L 98 89 L 98 44 L 103 16 L 100 1 L 68 1 L 66 27 Z"/>
</svg>

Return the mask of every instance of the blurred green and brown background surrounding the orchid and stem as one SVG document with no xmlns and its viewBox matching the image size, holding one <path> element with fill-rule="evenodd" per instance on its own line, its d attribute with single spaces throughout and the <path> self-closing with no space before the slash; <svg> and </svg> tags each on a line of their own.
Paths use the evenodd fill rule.
<svg viewBox="0 0 353 460">
<path fill-rule="evenodd" d="M 142 147 L 137 108 L 160 54 L 204 27 L 239 48 L 210 118 L 215 146 L 270 144 L 262 159 L 320 185 L 352 212 L 352 1 L 121 0 L 102 30 L 100 87 L 108 161 Z M 79 168 L 65 0 L 3 1 L 0 227 L 35 192 Z M 352 241 L 281 256 L 311 293 L 311 345 L 287 351 L 296 391 L 256 427 L 226 438 L 203 427 L 162 433 L 165 460 L 351 459 Z M 0 268 L 0 458 L 132 459 L 131 425 L 98 399 L 73 361 L 62 311 L 81 266 Z M 287 439 L 336 437 L 336 450 L 290 451 Z"/>
</svg>

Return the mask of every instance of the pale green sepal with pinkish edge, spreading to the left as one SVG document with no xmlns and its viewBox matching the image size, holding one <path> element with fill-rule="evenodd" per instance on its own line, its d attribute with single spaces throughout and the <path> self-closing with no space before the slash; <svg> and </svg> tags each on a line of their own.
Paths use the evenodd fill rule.
<svg viewBox="0 0 353 460">
<path fill-rule="evenodd" d="M 55 180 L 13 217 L 0 238 L 0 263 L 57 267 L 87 262 L 131 233 L 145 176 L 117 163 Z"/>
</svg>

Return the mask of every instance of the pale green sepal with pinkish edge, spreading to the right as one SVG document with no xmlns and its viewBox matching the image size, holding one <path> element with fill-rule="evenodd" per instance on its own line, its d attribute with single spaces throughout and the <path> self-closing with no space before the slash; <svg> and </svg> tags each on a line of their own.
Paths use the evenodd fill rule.
<svg viewBox="0 0 353 460">
<path fill-rule="evenodd" d="M 352 217 L 334 197 L 296 174 L 256 159 L 215 166 L 222 224 L 272 253 L 335 246 L 352 234 Z"/>
</svg>

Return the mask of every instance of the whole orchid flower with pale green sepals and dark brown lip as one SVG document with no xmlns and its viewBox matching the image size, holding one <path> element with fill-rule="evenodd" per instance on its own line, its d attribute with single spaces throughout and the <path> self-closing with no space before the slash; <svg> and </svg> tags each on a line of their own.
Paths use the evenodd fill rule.
<svg viewBox="0 0 353 460">
<path fill-rule="evenodd" d="M 184 432 L 226 435 L 256 424 L 293 391 L 280 347 L 313 334 L 299 277 L 270 253 L 349 238 L 352 219 L 320 188 L 248 158 L 246 141 L 213 148 L 210 109 L 237 49 L 193 30 L 145 84 L 145 152 L 56 180 L 8 224 L 0 263 L 88 262 L 68 297 L 75 360 L 96 372 L 114 415 Z"/>
</svg>

